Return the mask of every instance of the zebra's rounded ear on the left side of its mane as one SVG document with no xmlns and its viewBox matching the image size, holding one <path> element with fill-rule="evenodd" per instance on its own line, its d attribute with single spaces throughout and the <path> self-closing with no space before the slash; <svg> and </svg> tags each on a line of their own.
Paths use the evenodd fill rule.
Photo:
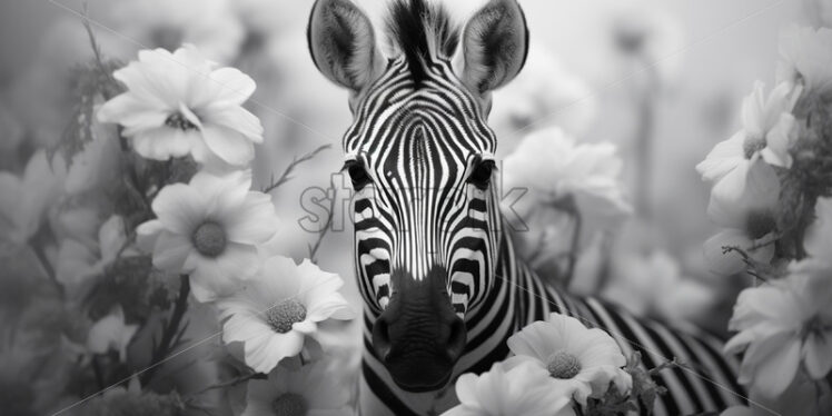
<svg viewBox="0 0 832 416">
<path fill-rule="evenodd" d="M 369 19 L 349 0 L 317 0 L 306 38 L 318 70 L 353 92 L 361 91 L 384 68 Z"/>
</svg>

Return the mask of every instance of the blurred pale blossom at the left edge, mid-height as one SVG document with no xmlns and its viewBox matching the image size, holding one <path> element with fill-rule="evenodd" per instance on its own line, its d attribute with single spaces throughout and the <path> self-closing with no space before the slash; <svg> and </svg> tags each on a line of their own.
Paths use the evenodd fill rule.
<svg viewBox="0 0 832 416">
<path fill-rule="evenodd" d="M 66 165 L 37 151 L 21 177 L 0 171 L 0 247 L 22 246 L 40 229 L 43 216 L 60 196 Z"/>
</svg>

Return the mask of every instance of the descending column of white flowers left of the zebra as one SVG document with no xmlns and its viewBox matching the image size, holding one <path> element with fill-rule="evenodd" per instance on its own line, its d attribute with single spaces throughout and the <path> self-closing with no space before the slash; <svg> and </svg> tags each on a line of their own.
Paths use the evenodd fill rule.
<svg viewBox="0 0 832 416">
<path fill-rule="evenodd" d="M 268 375 L 250 382 L 244 414 L 263 406 L 349 414 L 348 390 L 327 384 L 329 364 L 316 341 L 323 321 L 354 317 L 338 293 L 343 280 L 267 248 L 278 237 L 278 218 L 271 198 L 250 189 L 249 169 L 263 127 L 241 106 L 254 80 L 216 68 L 192 46 L 140 51 L 113 76 L 127 90 L 101 106 L 99 119 L 120 125 L 147 159 L 192 158 L 199 166 L 187 184 L 156 192 L 156 218 L 137 227 L 136 242 L 156 269 L 187 276 L 194 298 L 218 309 L 222 340 L 239 343 L 245 364 Z M 305 365 L 278 367 L 291 357 Z"/>
</svg>

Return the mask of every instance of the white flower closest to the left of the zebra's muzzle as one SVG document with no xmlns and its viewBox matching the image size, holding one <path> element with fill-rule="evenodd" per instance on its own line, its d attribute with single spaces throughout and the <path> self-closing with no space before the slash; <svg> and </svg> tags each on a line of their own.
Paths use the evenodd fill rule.
<svg viewBox="0 0 832 416">
<path fill-rule="evenodd" d="M 267 259 L 263 270 L 235 295 L 217 301 L 225 343 L 244 344 L 246 365 L 268 373 L 281 359 L 300 353 L 317 338 L 326 319 L 351 319 L 337 290 L 344 281 L 311 261 L 299 266 L 285 257 Z"/>
</svg>

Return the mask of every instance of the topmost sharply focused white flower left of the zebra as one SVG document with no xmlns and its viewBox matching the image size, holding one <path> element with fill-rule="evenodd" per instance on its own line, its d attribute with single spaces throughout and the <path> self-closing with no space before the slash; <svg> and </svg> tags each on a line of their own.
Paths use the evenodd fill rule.
<svg viewBox="0 0 832 416">
<path fill-rule="evenodd" d="M 255 81 L 234 68 L 217 69 L 192 46 L 142 50 L 113 77 L 127 92 L 101 106 L 98 117 L 123 126 L 146 158 L 191 155 L 212 168 L 241 167 L 263 142 L 260 121 L 241 106 Z"/>
</svg>

